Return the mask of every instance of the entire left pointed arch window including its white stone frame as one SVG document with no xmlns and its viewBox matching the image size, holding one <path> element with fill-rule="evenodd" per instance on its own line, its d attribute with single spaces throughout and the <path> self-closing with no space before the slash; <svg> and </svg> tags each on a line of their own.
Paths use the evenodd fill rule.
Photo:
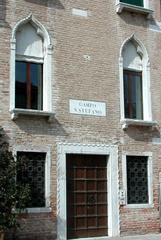
<svg viewBox="0 0 161 240">
<path fill-rule="evenodd" d="M 16 24 L 11 40 L 11 113 L 52 112 L 52 45 L 32 15 Z M 47 114 L 48 115 L 48 114 Z"/>
</svg>

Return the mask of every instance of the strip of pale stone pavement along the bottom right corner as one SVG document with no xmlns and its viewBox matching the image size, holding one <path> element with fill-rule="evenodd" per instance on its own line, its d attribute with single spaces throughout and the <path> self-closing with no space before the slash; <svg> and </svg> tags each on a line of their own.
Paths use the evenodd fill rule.
<svg viewBox="0 0 161 240">
<path fill-rule="evenodd" d="M 126 237 L 112 237 L 109 240 L 161 240 L 160 234 L 147 234 L 137 236 L 126 236 Z"/>
</svg>

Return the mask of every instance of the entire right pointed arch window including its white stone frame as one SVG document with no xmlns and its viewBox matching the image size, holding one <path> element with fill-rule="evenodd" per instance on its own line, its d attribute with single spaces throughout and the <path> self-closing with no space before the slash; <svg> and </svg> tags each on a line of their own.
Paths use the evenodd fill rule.
<svg viewBox="0 0 161 240">
<path fill-rule="evenodd" d="M 120 52 L 121 122 L 153 125 L 150 96 L 150 66 L 147 51 L 135 36 L 127 39 Z"/>
</svg>

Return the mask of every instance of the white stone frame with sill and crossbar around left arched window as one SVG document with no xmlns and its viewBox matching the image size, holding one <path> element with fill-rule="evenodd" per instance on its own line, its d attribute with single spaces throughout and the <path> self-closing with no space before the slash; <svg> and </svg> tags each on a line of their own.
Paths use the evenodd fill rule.
<svg viewBox="0 0 161 240">
<path fill-rule="evenodd" d="M 37 30 L 37 34 L 43 38 L 44 41 L 44 59 L 28 56 L 16 56 L 16 32 L 19 27 L 31 23 Z M 14 120 L 18 115 L 52 115 L 52 53 L 53 46 L 51 44 L 50 36 L 46 28 L 32 15 L 20 20 L 12 30 L 11 37 L 11 56 L 10 56 L 10 108 L 11 118 Z M 35 63 L 43 63 L 43 110 L 19 109 L 15 108 L 15 62 L 32 61 Z"/>
</svg>

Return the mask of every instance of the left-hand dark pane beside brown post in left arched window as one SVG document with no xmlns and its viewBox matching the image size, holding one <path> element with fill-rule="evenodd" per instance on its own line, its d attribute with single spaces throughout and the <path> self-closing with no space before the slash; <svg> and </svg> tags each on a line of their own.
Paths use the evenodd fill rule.
<svg viewBox="0 0 161 240">
<path fill-rule="evenodd" d="M 27 68 L 26 63 L 16 62 L 15 107 L 26 108 L 27 105 Z"/>
</svg>

